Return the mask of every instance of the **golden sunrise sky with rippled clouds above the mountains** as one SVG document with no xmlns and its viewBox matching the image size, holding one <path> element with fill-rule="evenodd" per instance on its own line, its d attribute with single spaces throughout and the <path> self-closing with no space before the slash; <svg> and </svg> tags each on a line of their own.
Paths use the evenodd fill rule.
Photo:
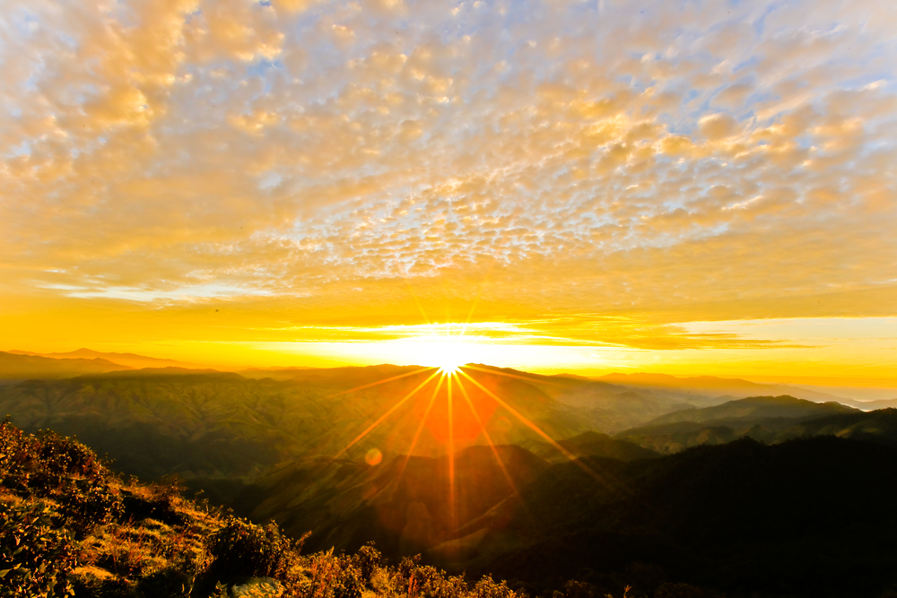
<svg viewBox="0 0 897 598">
<path fill-rule="evenodd" d="M 897 386 L 890 1 L 0 5 L 0 350 Z"/>
</svg>

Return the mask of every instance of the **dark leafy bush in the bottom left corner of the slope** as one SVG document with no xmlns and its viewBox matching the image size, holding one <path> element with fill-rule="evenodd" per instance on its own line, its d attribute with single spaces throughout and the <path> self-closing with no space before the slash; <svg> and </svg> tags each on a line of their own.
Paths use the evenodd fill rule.
<svg viewBox="0 0 897 598">
<path fill-rule="evenodd" d="M 74 594 L 66 578 L 76 562 L 74 544 L 52 515 L 44 503 L 0 513 L 0 596 Z"/>
</svg>

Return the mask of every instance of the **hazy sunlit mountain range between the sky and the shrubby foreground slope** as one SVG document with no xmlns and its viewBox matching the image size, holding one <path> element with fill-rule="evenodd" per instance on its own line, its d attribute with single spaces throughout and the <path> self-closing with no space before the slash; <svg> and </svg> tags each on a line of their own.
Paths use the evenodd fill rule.
<svg viewBox="0 0 897 598">
<path fill-rule="evenodd" d="M 530 594 L 591 588 L 566 598 L 679 581 L 731 596 L 897 589 L 897 409 L 741 396 L 782 386 L 710 377 L 470 364 L 449 395 L 434 368 L 80 354 L 0 352 L 7 374 L 34 374 L 7 377 L 0 411 L 76 435 L 118 472 L 176 475 L 238 516 L 311 531 L 310 550 L 374 541 L 393 562 L 421 553 Z"/>
</svg>

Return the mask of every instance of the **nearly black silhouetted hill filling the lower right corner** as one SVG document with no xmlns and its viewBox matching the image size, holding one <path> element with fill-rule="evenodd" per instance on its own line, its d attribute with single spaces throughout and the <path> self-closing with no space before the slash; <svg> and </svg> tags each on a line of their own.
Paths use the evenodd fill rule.
<svg viewBox="0 0 897 598">
<path fill-rule="evenodd" d="M 600 586 L 620 571 L 654 568 L 763 596 L 872 596 L 897 581 L 892 447 L 744 439 L 663 459 L 583 463 L 596 477 L 553 465 L 521 491 L 522 505 L 492 516 L 498 524 L 466 570 Z"/>
</svg>

